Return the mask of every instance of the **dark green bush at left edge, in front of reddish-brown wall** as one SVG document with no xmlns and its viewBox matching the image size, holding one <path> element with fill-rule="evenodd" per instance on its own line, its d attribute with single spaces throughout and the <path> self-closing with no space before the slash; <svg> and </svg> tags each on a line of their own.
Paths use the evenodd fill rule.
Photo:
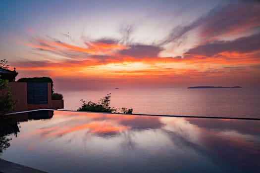
<svg viewBox="0 0 260 173">
<path fill-rule="evenodd" d="M 17 99 L 8 91 L 8 80 L 0 79 L 0 114 L 5 114 L 14 110 Z"/>
</svg>

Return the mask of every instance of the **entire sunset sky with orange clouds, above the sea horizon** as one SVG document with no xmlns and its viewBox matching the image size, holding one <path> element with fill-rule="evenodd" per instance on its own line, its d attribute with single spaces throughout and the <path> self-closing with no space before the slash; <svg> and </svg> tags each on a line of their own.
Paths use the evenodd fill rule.
<svg viewBox="0 0 260 173">
<path fill-rule="evenodd" d="M 0 0 L 0 59 L 56 90 L 260 87 L 258 0 Z"/>
</svg>

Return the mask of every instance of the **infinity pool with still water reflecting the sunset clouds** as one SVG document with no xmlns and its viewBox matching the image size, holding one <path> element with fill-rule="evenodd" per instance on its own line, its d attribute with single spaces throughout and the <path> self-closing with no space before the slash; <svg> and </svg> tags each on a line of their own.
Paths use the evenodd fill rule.
<svg viewBox="0 0 260 173">
<path fill-rule="evenodd" d="M 0 132 L 0 158 L 50 173 L 260 170 L 259 120 L 70 111 L 10 119 Z"/>
</svg>

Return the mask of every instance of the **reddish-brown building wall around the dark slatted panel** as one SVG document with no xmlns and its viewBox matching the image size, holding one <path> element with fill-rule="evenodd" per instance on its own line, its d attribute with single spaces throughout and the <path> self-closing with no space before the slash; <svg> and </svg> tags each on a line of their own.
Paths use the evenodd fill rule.
<svg viewBox="0 0 260 173">
<path fill-rule="evenodd" d="M 48 104 L 27 104 L 27 83 L 8 83 L 10 92 L 18 100 L 14 112 L 28 111 L 35 109 L 62 109 L 63 100 L 52 100 L 51 83 L 48 83 Z"/>
</svg>

